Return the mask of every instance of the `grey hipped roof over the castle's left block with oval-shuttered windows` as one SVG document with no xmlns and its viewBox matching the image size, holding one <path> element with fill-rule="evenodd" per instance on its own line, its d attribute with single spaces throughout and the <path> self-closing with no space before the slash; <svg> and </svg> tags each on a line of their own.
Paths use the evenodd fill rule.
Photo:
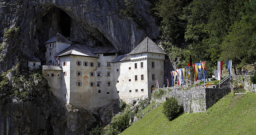
<svg viewBox="0 0 256 135">
<path fill-rule="evenodd" d="M 95 54 L 91 52 L 85 45 L 74 44 L 67 49 L 60 52 L 57 56 L 64 55 L 80 55 L 80 56 L 88 56 L 88 57 L 97 57 Z"/>
</svg>

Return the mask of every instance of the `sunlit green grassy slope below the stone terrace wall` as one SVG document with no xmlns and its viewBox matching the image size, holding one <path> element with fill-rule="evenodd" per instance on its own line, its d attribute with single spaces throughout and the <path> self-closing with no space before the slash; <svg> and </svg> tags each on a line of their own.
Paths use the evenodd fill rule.
<svg viewBox="0 0 256 135">
<path fill-rule="evenodd" d="M 163 105 L 149 112 L 121 135 L 256 133 L 256 94 L 226 95 L 204 113 L 184 113 L 168 121 Z"/>
</svg>

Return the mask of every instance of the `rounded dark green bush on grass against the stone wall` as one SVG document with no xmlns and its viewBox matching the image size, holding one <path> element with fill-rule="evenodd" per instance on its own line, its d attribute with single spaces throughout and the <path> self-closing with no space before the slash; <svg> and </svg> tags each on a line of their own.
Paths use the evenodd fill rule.
<svg viewBox="0 0 256 135">
<path fill-rule="evenodd" d="M 178 104 L 178 100 L 175 97 L 171 97 L 164 102 L 162 112 L 168 120 L 173 120 L 183 112 L 183 107 Z"/>
</svg>

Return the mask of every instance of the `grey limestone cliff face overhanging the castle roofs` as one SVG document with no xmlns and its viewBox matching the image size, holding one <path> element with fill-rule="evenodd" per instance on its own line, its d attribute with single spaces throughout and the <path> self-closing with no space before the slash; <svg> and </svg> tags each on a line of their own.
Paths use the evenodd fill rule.
<svg viewBox="0 0 256 135">
<path fill-rule="evenodd" d="M 124 0 L 1 0 L 0 70 L 26 63 L 27 57 L 43 61 L 44 42 L 57 32 L 73 43 L 113 46 L 121 53 L 130 52 L 146 36 L 155 41 L 159 30 L 151 2 L 136 0 L 132 18 L 122 13 L 126 6 Z"/>
</svg>

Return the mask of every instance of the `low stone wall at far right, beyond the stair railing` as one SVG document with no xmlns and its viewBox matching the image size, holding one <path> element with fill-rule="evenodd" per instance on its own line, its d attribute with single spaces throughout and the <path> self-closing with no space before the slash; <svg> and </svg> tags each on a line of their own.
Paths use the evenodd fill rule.
<svg viewBox="0 0 256 135">
<path fill-rule="evenodd" d="M 238 87 L 238 84 L 242 84 L 242 87 L 248 91 L 256 93 L 256 84 L 253 84 L 250 80 L 252 75 L 232 75 L 231 82 L 234 87 Z"/>
</svg>

